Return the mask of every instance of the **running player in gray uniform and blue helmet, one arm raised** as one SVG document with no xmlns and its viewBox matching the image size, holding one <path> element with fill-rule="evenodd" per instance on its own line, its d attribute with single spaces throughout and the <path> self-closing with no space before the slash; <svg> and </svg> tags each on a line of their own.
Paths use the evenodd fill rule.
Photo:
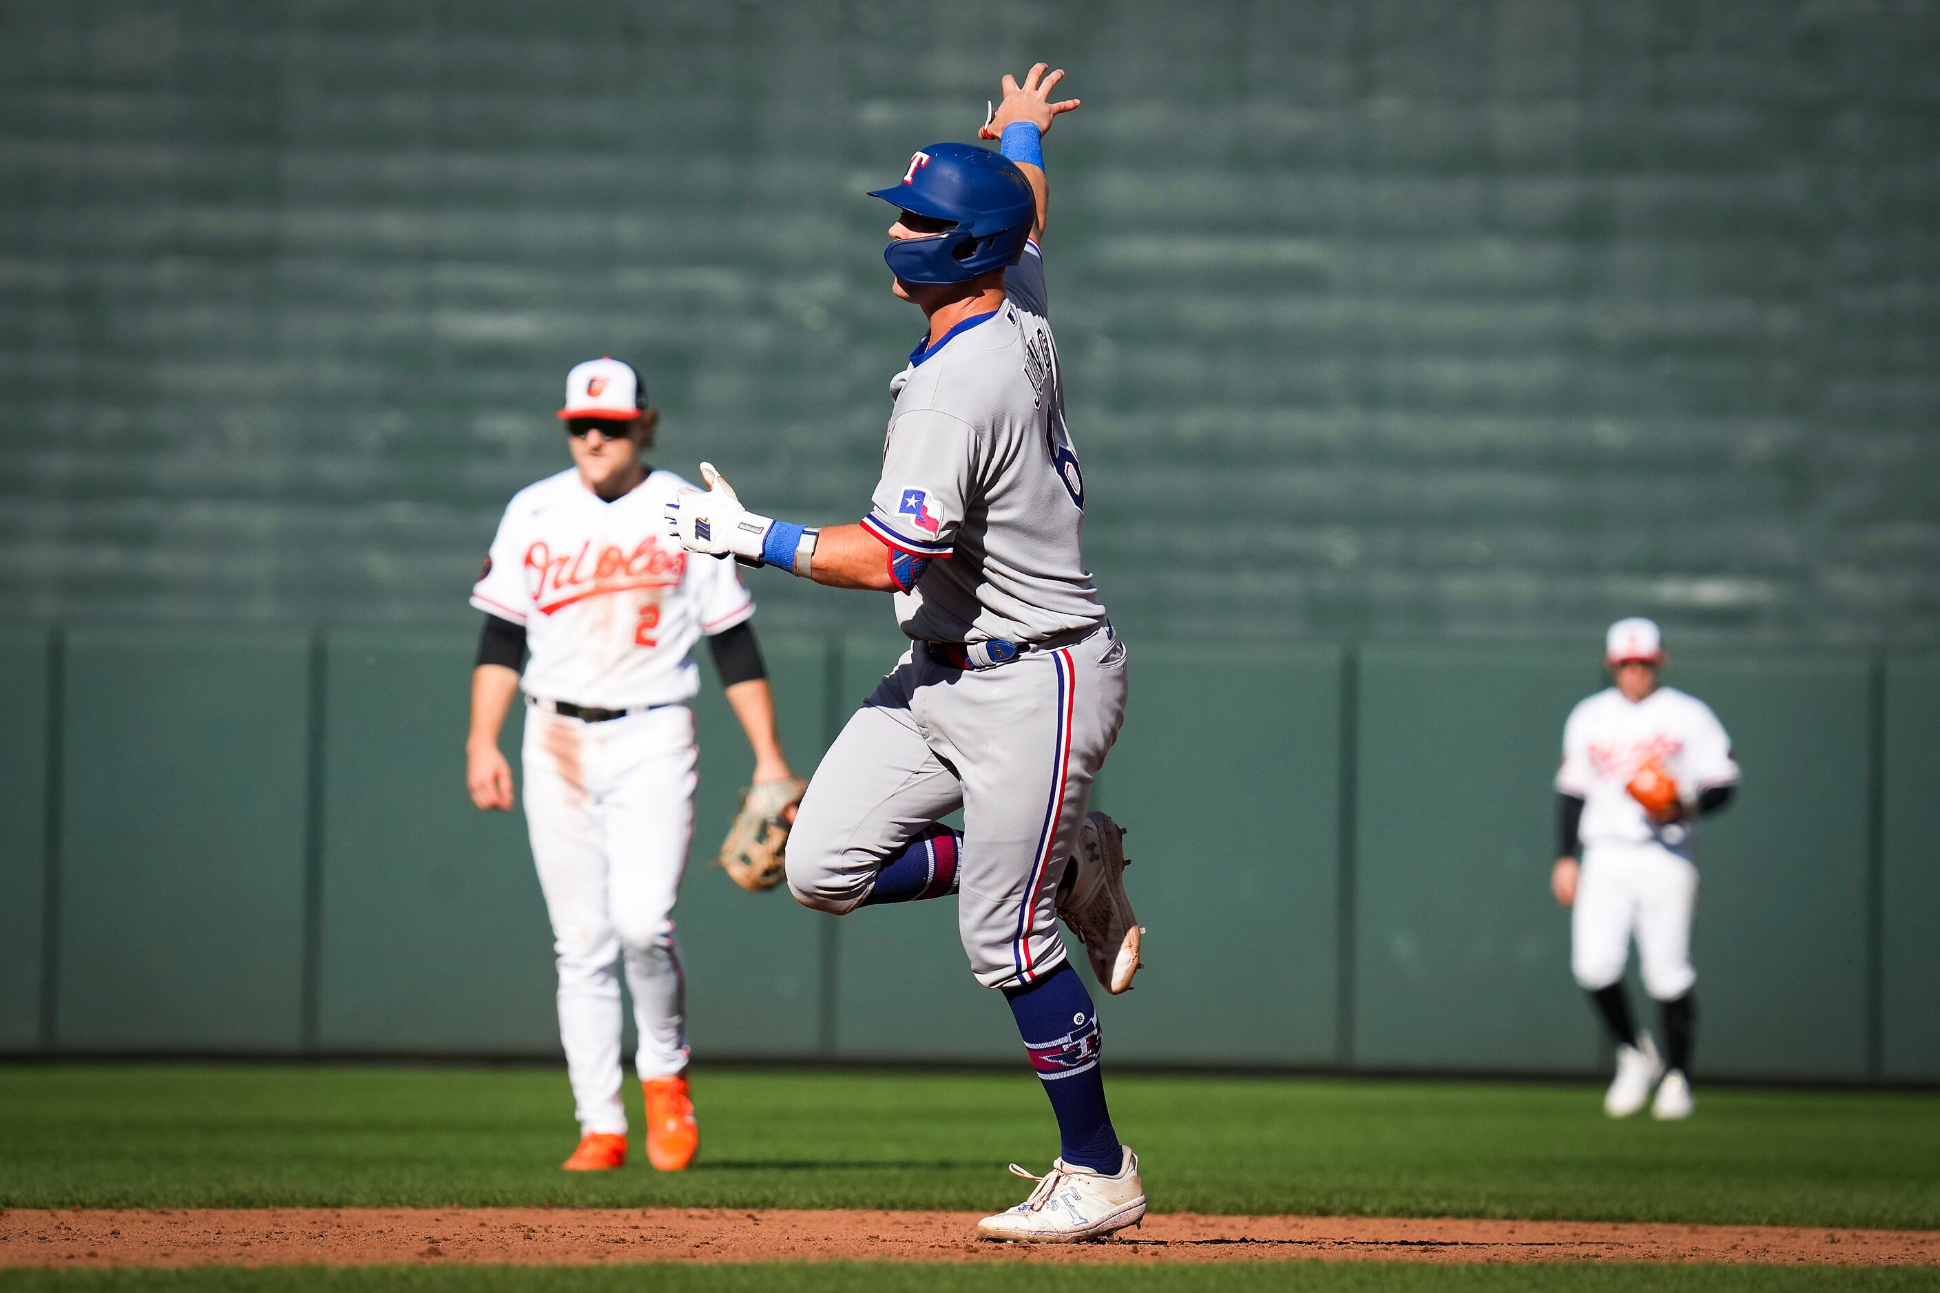
<svg viewBox="0 0 1940 1293">
<path fill-rule="evenodd" d="M 1046 320 L 1042 136 L 1079 107 L 1038 64 L 984 122 L 1001 153 L 935 143 L 900 182 L 885 252 L 894 295 L 929 328 L 890 382 L 894 411 L 869 514 L 821 531 L 741 508 L 706 463 L 667 525 L 834 587 L 894 593 L 912 640 L 823 758 L 788 847 L 788 886 L 834 915 L 956 894 L 978 983 L 1011 1002 L 1057 1115 L 1061 1155 L 991 1239 L 1075 1241 L 1145 1215 L 1098 1072 L 1098 1016 L 1057 917 L 1110 993 L 1131 985 L 1139 927 L 1116 824 L 1086 814 L 1125 713 L 1125 646 L 1079 551 L 1084 477 L 1065 428 Z M 964 832 L 939 826 L 964 810 Z"/>
</svg>

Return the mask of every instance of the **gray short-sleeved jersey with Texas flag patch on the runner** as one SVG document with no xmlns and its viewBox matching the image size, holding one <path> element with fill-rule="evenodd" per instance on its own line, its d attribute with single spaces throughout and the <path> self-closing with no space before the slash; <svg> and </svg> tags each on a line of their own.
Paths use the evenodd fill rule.
<svg viewBox="0 0 1940 1293">
<path fill-rule="evenodd" d="M 896 593 L 896 622 L 918 640 L 1044 642 L 1104 620 L 1036 242 L 1003 281 L 993 314 L 920 345 L 889 386 L 883 477 L 861 523 L 933 558 Z"/>
</svg>

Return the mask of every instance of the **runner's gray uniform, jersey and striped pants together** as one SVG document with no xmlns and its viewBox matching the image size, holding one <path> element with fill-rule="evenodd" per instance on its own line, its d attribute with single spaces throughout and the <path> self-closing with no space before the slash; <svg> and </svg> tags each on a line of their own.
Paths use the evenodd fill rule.
<svg viewBox="0 0 1940 1293">
<path fill-rule="evenodd" d="M 1001 308 L 920 345 L 890 382 L 863 525 L 922 572 L 896 595 L 914 646 L 823 758 L 788 841 L 795 898 L 844 913 L 960 806 L 958 932 L 986 987 L 1065 962 L 1057 880 L 1127 690 L 1079 545 L 1084 479 L 1036 242 L 1005 287 Z"/>
</svg>

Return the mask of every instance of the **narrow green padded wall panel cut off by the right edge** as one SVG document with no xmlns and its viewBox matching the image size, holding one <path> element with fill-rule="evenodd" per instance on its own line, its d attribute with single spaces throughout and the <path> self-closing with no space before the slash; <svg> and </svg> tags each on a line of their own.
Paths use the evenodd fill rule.
<svg viewBox="0 0 1940 1293">
<path fill-rule="evenodd" d="M 1886 663 L 1880 1076 L 1940 1080 L 1940 657 Z"/>
</svg>

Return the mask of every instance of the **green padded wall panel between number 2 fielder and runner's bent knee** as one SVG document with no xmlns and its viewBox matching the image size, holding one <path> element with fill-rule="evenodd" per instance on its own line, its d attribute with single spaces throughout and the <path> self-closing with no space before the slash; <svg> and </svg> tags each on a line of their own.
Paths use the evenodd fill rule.
<svg viewBox="0 0 1940 1293">
<path fill-rule="evenodd" d="M 766 587 L 757 589 L 757 595 Z M 762 632 L 776 721 L 795 775 L 809 777 L 823 752 L 828 647 L 817 636 Z M 695 797 L 695 845 L 675 921 L 687 967 L 687 1018 L 695 1056 L 803 1058 L 828 1027 L 823 1018 L 823 917 L 797 903 L 786 884 L 747 894 L 714 865 L 728 822 L 749 783 L 747 735 L 722 696 L 704 646 L 695 715 L 700 739 L 700 789 Z"/>
</svg>

